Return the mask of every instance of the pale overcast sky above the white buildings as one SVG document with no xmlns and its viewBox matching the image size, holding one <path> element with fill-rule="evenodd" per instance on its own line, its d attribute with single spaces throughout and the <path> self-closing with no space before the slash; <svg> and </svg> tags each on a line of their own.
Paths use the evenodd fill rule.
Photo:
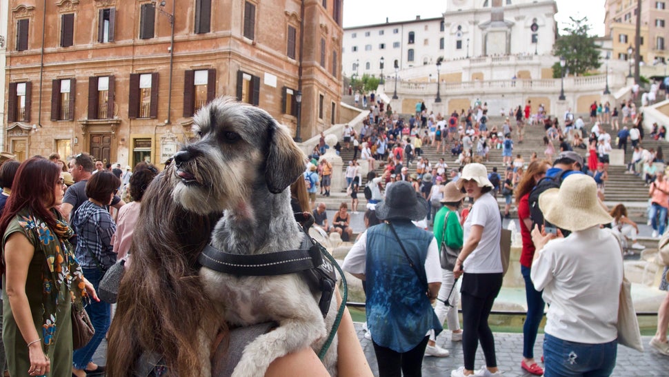
<svg viewBox="0 0 669 377">
<path fill-rule="evenodd" d="M 606 0 L 557 0 L 555 19 L 560 30 L 569 17 L 588 17 L 592 34 L 604 34 L 604 2 Z M 386 22 L 410 21 L 420 15 L 423 19 L 440 17 L 446 10 L 443 0 L 344 0 L 343 27 L 364 26 Z"/>
</svg>

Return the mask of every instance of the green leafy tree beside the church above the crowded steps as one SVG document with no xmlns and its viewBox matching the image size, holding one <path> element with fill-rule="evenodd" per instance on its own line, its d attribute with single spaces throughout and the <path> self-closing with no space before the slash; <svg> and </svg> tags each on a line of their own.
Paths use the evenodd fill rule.
<svg viewBox="0 0 669 377">
<path fill-rule="evenodd" d="M 555 41 L 553 55 L 564 57 L 565 69 L 576 76 L 583 75 L 589 70 L 599 68 L 599 48 L 595 43 L 595 37 L 588 34 L 590 25 L 588 17 L 571 20 L 570 26 L 564 28 L 565 34 L 560 35 Z M 559 63 L 553 65 L 553 77 L 562 77 Z"/>
</svg>

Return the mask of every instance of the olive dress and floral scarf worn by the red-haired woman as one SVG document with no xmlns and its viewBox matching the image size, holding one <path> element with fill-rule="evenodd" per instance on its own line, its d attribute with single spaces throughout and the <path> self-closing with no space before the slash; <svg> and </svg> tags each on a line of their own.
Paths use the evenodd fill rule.
<svg viewBox="0 0 669 377">
<path fill-rule="evenodd" d="M 61 216 L 57 216 L 57 230 L 22 210 L 9 223 L 3 236 L 4 245 L 14 232 L 20 232 L 34 246 L 28 266 L 26 296 L 32 320 L 41 345 L 51 360 L 51 371 L 46 376 L 70 376 L 72 373 L 72 319 L 70 311 L 74 300 L 81 305 L 86 295 L 81 268 L 67 241 L 72 230 Z M 3 285 L 5 285 L 3 275 Z M 11 376 L 27 376 L 30 368 L 28 346 L 17 327 L 6 292 L 3 292 L 3 342 Z"/>
</svg>

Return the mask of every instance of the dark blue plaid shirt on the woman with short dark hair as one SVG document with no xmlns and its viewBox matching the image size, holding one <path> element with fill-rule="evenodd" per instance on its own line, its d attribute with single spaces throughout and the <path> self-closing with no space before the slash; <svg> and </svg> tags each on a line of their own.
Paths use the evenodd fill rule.
<svg viewBox="0 0 669 377">
<path fill-rule="evenodd" d="M 117 255 L 112 247 L 116 224 L 107 210 L 86 201 L 74 212 L 72 226 L 77 233 L 74 254 L 82 268 L 101 268 L 106 271 L 116 263 Z"/>
</svg>

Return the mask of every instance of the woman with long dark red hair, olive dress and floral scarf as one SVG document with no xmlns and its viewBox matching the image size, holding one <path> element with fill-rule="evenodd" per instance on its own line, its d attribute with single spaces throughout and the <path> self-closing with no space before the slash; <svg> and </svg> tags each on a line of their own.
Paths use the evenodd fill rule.
<svg viewBox="0 0 669 377">
<path fill-rule="evenodd" d="M 74 258 L 72 228 L 55 209 L 63 188 L 58 165 L 39 156 L 23 161 L 0 218 L 2 340 L 11 376 L 69 376 L 72 303 L 98 300 Z"/>
</svg>

